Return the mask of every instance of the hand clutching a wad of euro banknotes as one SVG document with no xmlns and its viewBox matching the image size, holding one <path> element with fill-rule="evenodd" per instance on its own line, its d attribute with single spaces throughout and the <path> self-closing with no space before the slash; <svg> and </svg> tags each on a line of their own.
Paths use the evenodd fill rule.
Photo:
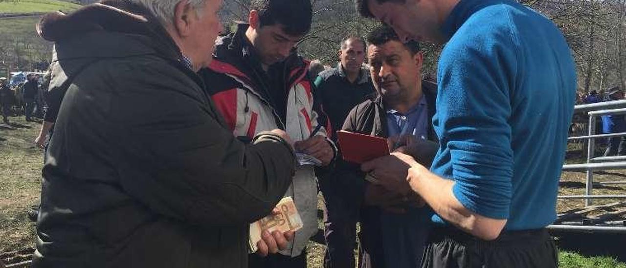
<svg viewBox="0 0 626 268">
<path fill-rule="evenodd" d="M 249 245 L 252 252 L 265 256 L 285 249 L 294 232 L 302 228 L 302 219 L 294 200 L 285 197 L 276 205 L 272 215 L 250 224 Z"/>
</svg>

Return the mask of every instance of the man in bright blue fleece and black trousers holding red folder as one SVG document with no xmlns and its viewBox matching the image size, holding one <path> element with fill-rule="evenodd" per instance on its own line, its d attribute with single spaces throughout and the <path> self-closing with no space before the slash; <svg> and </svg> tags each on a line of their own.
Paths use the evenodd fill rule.
<svg viewBox="0 0 626 268">
<path fill-rule="evenodd" d="M 362 165 L 434 210 L 423 267 L 555 267 L 556 218 L 576 91 L 575 65 L 549 19 L 508 0 L 356 0 L 439 58 L 439 150 L 430 170 L 392 153 Z"/>
</svg>

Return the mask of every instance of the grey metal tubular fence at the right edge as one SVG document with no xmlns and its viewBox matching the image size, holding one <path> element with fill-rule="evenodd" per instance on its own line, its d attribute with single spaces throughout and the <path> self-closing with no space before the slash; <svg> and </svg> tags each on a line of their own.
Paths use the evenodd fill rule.
<svg viewBox="0 0 626 268">
<path fill-rule="evenodd" d="M 619 101 L 606 101 L 602 103 L 592 103 L 587 105 L 577 105 L 574 108 L 575 115 L 587 115 L 588 120 L 586 122 L 587 135 L 575 136 L 568 138 L 568 141 L 585 141 L 587 150 L 586 159 L 587 163 L 582 164 L 570 164 L 563 165 L 563 171 L 578 171 L 586 172 L 587 180 L 585 185 L 584 195 L 560 195 L 560 199 L 584 199 L 585 207 L 592 205 L 593 200 L 597 199 L 626 199 L 626 195 L 593 195 L 593 172 L 598 170 L 617 170 L 626 169 L 626 156 L 615 157 L 595 157 L 596 139 L 597 138 L 609 138 L 609 137 L 624 137 L 626 132 L 611 133 L 611 134 L 597 134 L 596 123 L 598 117 L 603 115 L 621 115 L 626 114 L 626 100 Z M 602 182 L 600 185 L 608 184 L 626 184 L 626 181 L 615 182 Z M 593 226 L 582 222 L 582 225 L 550 225 L 548 229 L 561 231 L 561 232 L 613 232 L 626 234 L 626 221 L 615 221 L 616 225 L 621 226 Z"/>
</svg>

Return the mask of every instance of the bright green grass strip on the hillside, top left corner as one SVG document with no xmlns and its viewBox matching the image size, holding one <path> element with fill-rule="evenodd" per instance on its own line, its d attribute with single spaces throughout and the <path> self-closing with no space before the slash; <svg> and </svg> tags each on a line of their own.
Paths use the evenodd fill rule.
<svg viewBox="0 0 626 268">
<path fill-rule="evenodd" d="M 79 4 L 59 0 L 0 0 L 0 14 L 68 12 L 78 8 Z"/>
</svg>

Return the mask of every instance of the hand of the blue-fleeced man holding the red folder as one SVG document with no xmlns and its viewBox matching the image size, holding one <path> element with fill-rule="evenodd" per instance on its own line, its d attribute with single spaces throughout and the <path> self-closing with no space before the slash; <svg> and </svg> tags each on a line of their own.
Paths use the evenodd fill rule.
<svg viewBox="0 0 626 268">
<path fill-rule="evenodd" d="M 387 190 L 407 196 L 411 192 L 411 187 L 406 177 L 413 165 L 419 165 L 413 157 L 404 153 L 391 153 L 363 163 L 361 170 L 370 172 Z"/>
</svg>

